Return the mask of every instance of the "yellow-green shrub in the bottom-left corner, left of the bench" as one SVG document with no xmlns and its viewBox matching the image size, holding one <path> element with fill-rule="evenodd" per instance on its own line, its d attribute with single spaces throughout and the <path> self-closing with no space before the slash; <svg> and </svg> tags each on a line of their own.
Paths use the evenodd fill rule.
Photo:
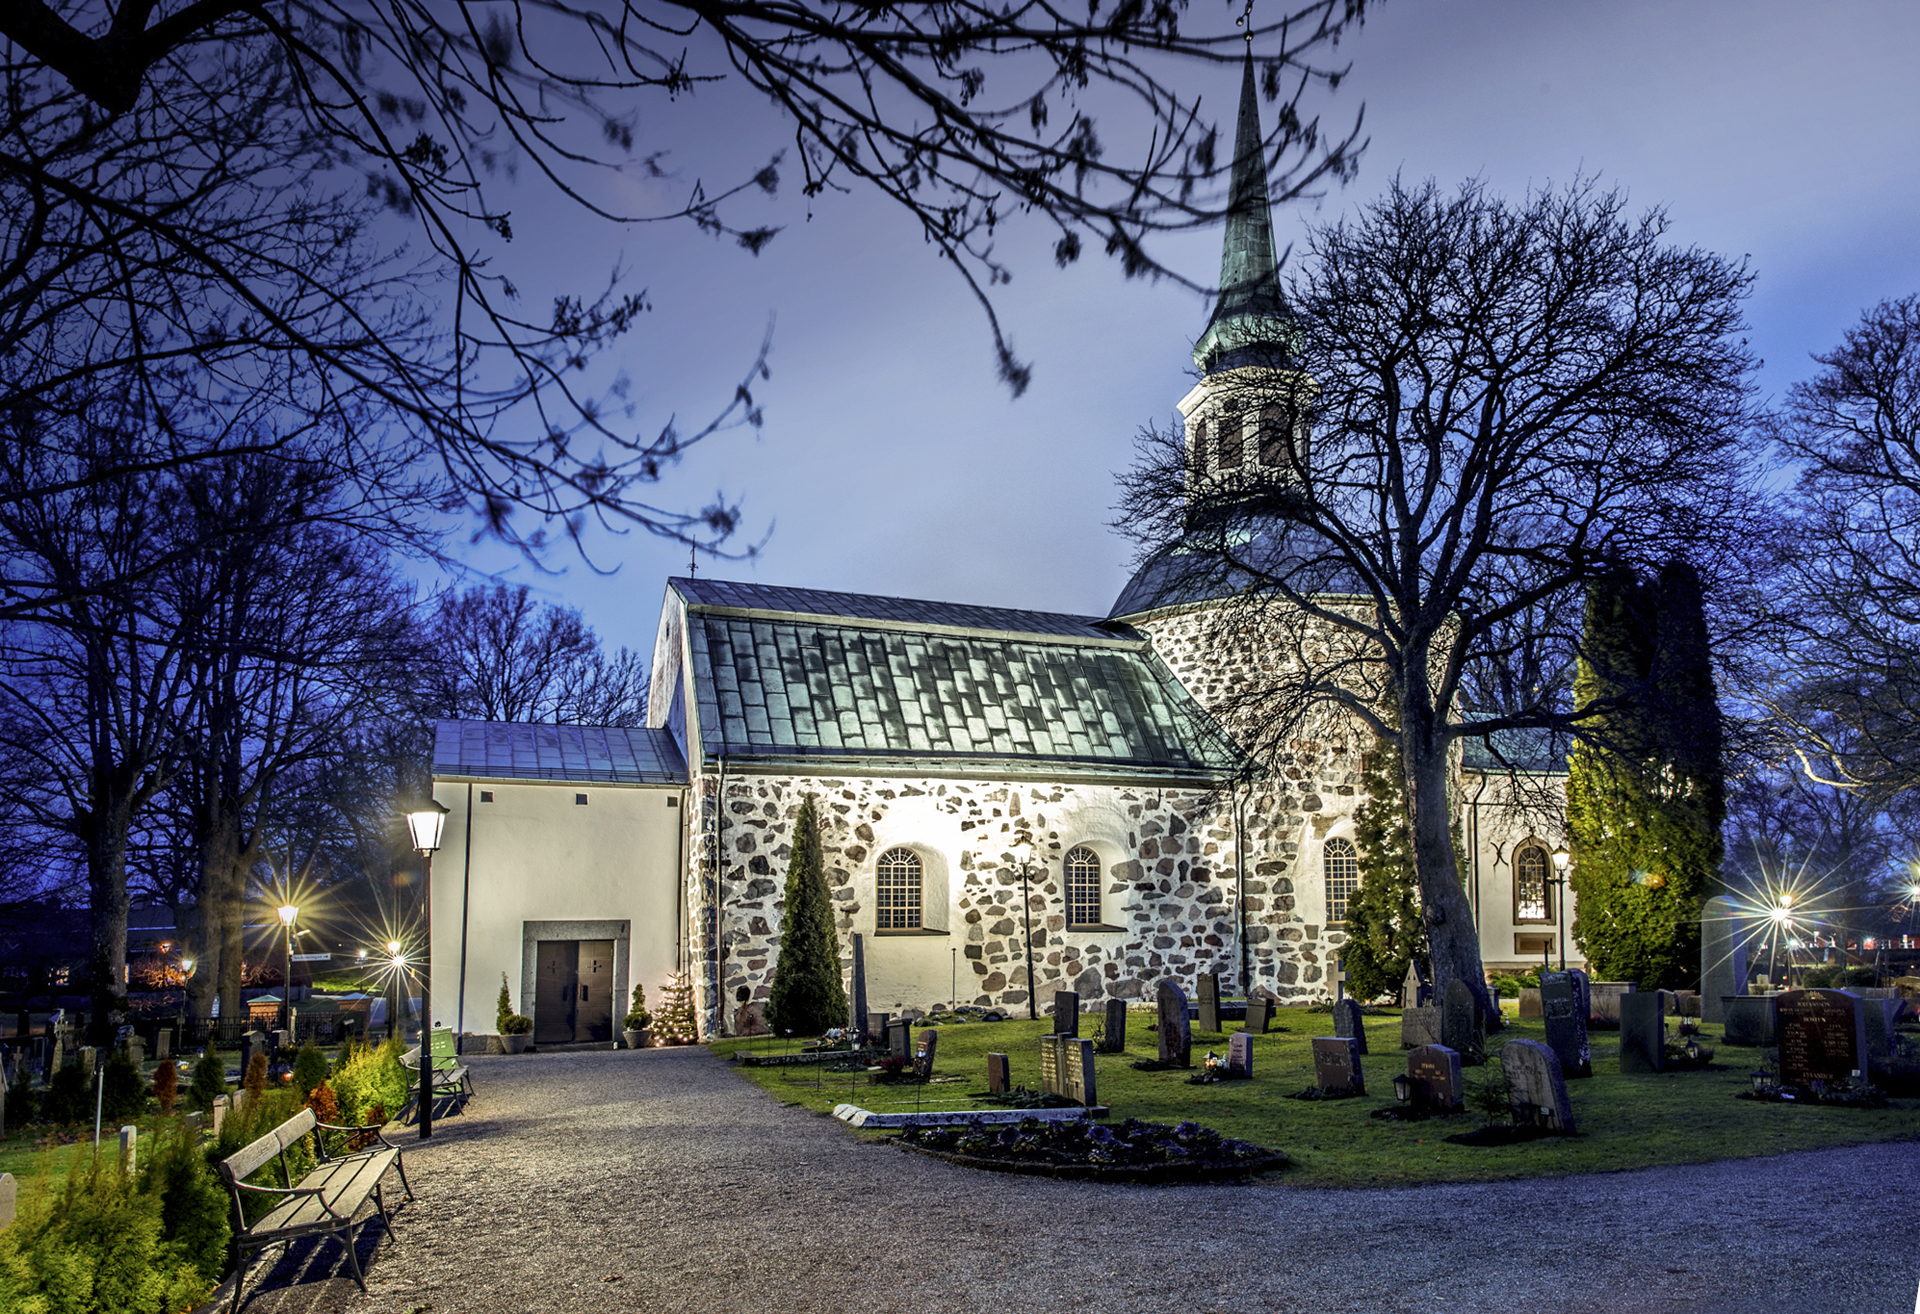
<svg viewBox="0 0 1920 1314">
<path fill-rule="evenodd" d="M 136 1189 L 109 1158 L 75 1156 L 63 1189 L 31 1193 L 0 1231 L 0 1308 L 169 1314 L 207 1293 L 204 1249 L 169 1241 L 165 1195 Z M 182 1233 L 184 1235 L 184 1233 Z M 225 1237 L 221 1239 L 225 1247 Z"/>
</svg>

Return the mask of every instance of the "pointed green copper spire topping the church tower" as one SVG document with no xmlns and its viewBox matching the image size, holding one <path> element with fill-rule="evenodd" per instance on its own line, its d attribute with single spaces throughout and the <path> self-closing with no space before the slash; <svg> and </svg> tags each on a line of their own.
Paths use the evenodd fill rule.
<svg viewBox="0 0 1920 1314">
<path fill-rule="evenodd" d="M 1281 365 L 1296 328 L 1281 300 L 1267 211 L 1267 154 L 1254 94 L 1254 52 L 1240 75 L 1240 123 L 1233 136 L 1227 240 L 1219 256 L 1219 302 L 1194 344 L 1194 365 L 1212 375 L 1236 365 Z"/>
</svg>

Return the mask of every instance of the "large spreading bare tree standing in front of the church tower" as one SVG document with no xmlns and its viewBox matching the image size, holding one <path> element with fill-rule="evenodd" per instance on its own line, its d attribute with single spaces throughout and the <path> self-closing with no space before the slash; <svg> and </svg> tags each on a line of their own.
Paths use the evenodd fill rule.
<svg viewBox="0 0 1920 1314">
<path fill-rule="evenodd" d="M 1751 277 L 1665 227 L 1592 182 L 1521 204 L 1396 182 L 1311 234 L 1284 350 L 1206 377 L 1258 446 L 1150 430 L 1123 480 L 1148 559 L 1265 645 L 1231 699 L 1263 761 L 1329 718 L 1400 742 L 1434 966 L 1488 1012 L 1450 761 L 1580 718 L 1563 676 L 1480 709 L 1463 682 L 1521 642 L 1571 651 L 1596 567 L 1713 557 L 1743 507 Z M 1519 624 L 1542 607 L 1559 636 Z"/>
</svg>

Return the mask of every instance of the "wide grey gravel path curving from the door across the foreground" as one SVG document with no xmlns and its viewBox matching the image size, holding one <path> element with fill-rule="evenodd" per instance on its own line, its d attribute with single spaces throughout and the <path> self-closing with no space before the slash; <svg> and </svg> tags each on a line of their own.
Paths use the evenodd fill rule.
<svg viewBox="0 0 1920 1314">
<path fill-rule="evenodd" d="M 1920 1145 L 1557 1181 L 1094 1187 L 952 1168 L 701 1049 L 474 1062 L 419 1201 L 248 1283 L 248 1314 L 1908 1314 Z"/>
</svg>

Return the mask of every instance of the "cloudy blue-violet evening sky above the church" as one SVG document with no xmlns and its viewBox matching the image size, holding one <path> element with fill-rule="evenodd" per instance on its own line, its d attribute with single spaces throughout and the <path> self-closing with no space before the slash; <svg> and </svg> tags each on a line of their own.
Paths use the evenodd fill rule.
<svg viewBox="0 0 1920 1314">
<path fill-rule="evenodd" d="M 1202 6 L 1215 4 L 1196 0 L 1194 13 L 1212 21 Z M 1342 40 L 1352 73 L 1315 102 L 1332 125 L 1365 106 L 1359 173 L 1279 207 L 1275 232 L 1298 242 L 1396 173 L 1444 186 L 1476 177 L 1513 198 L 1586 173 L 1624 188 L 1634 209 L 1665 207 L 1670 240 L 1751 261 L 1757 384 L 1778 400 L 1866 307 L 1920 292 L 1914 52 L 1920 6 L 1908 0 L 1388 0 Z M 1236 73 L 1183 77 L 1231 117 Z M 643 144 L 674 148 L 674 177 L 636 182 L 636 206 L 751 173 L 791 140 L 772 110 L 726 85 L 645 108 L 639 127 Z M 609 363 L 634 378 L 641 428 L 668 415 L 687 428 L 724 405 L 774 325 L 772 377 L 755 384 L 762 430 L 710 440 L 657 490 L 672 505 L 741 499 L 737 546 L 758 544 L 756 555 L 699 572 L 1106 615 L 1133 553 L 1112 528 L 1114 474 L 1140 426 L 1165 426 L 1192 386 L 1206 298 L 1125 280 L 1098 256 L 1058 271 L 1052 234 L 1016 217 L 1000 238 L 1016 277 L 995 298 L 1033 363 L 1014 400 L 972 292 L 904 211 L 854 194 L 818 198 L 808 215 L 793 173 L 780 196 L 732 215 L 781 225 L 760 256 L 684 223 L 599 223 L 532 188 L 511 202 L 524 284 L 589 284 L 620 265 L 647 290 L 651 313 Z M 1208 284 L 1219 231 L 1160 256 Z M 465 555 L 578 607 L 609 644 L 651 651 L 685 548 L 636 532 L 599 536 L 591 553 L 586 565 L 559 549 L 545 569 L 488 544 Z"/>
</svg>

